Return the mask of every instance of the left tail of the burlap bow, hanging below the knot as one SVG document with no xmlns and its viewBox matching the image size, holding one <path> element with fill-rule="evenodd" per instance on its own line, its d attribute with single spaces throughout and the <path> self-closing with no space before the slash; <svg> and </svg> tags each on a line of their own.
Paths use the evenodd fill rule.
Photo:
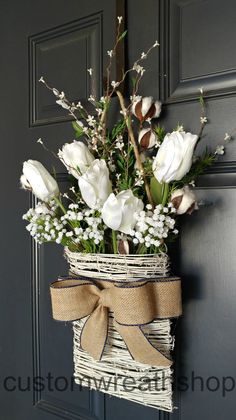
<svg viewBox="0 0 236 420">
<path fill-rule="evenodd" d="M 108 332 L 108 310 L 99 305 L 86 320 L 80 336 L 80 345 L 95 360 L 100 360 Z"/>
</svg>

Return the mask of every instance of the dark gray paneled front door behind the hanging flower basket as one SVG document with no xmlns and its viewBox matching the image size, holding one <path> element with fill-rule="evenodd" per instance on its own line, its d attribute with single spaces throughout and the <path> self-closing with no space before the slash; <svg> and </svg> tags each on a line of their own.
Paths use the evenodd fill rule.
<svg viewBox="0 0 236 420">
<path fill-rule="evenodd" d="M 39 250 L 21 220 L 30 204 L 19 190 L 22 162 L 34 158 L 50 167 L 51 157 L 37 139 L 57 151 L 73 138 L 66 113 L 37 81 L 44 75 L 74 100 L 92 91 L 100 94 L 117 7 L 123 14 L 121 0 L 0 0 L 2 420 L 234 418 L 234 142 L 197 188 L 199 199 L 209 205 L 186 217 L 182 226 L 184 317 L 177 340 L 179 410 L 173 415 L 73 386 L 72 330 L 51 319 L 48 290 L 65 273 L 62 249 Z M 165 127 L 183 123 L 198 132 L 197 96 L 203 87 L 210 122 L 203 143 L 221 143 L 235 128 L 235 1 L 127 0 L 125 9 L 128 63 L 160 41 L 147 61 L 141 93 L 162 99 Z M 96 69 L 93 86 L 88 67 Z M 56 161 L 55 166 L 63 184 L 63 168 Z"/>
</svg>

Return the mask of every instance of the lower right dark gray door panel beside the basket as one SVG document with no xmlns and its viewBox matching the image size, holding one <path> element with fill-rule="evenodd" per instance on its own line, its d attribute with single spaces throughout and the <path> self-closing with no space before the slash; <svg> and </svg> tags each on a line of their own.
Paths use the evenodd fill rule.
<svg viewBox="0 0 236 420">
<path fill-rule="evenodd" d="M 179 336 L 180 409 L 173 418 L 231 418 L 235 408 L 235 185 L 197 190 L 205 207 L 186 218 L 181 238 L 184 317 Z M 221 180 L 222 182 L 222 180 Z M 227 391 L 228 389 L 228 391 Z"/>
</svg>

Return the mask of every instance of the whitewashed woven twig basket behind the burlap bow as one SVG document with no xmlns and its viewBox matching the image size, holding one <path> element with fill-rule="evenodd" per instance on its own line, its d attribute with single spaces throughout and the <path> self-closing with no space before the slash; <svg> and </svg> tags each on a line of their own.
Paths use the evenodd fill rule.
<svg viewBox="0 0 236 420">
<path fill-rule="evenodd" d="M 167 276 L 168 256 L 80 254 L 65 249 L 70 274 L 115 282 L 130 282 Z M 108 338 L 101 361 L 95 361 L 80 346 L 80 333 L 87 318 L 73 322 L 75 382 L 90 389 L 172 412 L 172 369 L 156 368 L 134 361 L 109 314 Z M 174 347 L 169 319 L 155 320 L 142 328 L 154 347 L 167 357 Z"/>
</svg>

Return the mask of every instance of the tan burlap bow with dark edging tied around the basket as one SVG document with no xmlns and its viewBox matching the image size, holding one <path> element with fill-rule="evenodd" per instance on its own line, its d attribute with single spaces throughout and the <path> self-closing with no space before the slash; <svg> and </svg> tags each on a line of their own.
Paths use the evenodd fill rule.
<svg viewBox="0 0 236 420">
<path fill-rule="evenodd" d="M 108 332 L 108 313 L 131 356 L 151 366 L 170 366 L 171 360 L 157 350 L 141 326 L 157 318 L 181 315 L 179 278 L 158 278 L 147 282 L 113 283 L 84 278 L 62 278 L 50 286 L 53 318 L 75 321 L 86 316 L 81 347 L 100 360 Z"/>
</svg>

